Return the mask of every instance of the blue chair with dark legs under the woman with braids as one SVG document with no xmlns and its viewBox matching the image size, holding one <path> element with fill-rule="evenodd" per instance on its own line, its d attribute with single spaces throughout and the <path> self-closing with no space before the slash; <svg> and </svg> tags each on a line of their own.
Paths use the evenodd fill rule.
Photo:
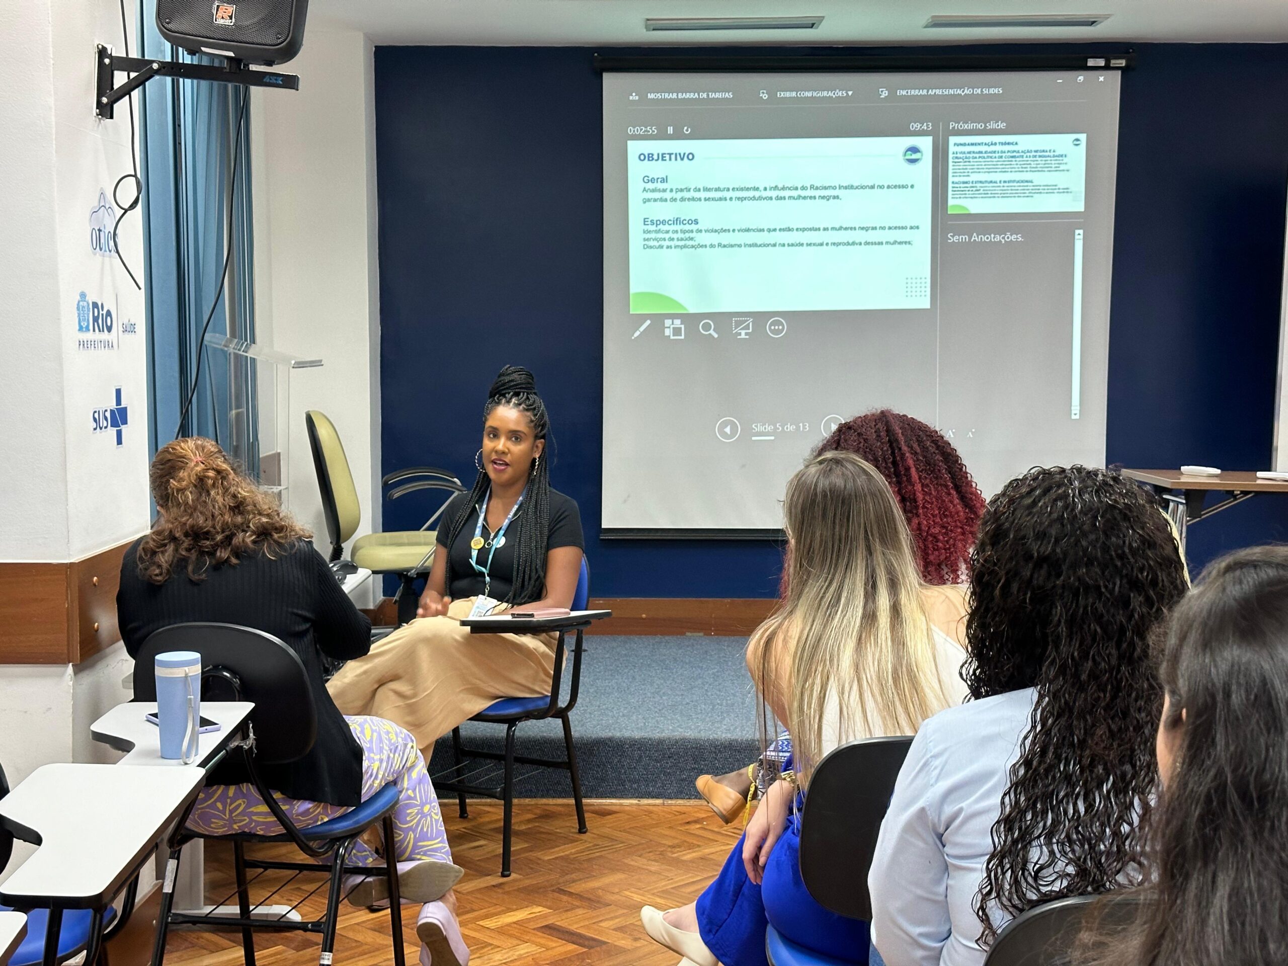
<svg viewBox="0 0 1288 966">
<path fill-rule="evenodd" d="M 577 577 L 577 590 L 572 595 L 572 609 L 585 611 L 590 600 L 590 569 L 586 567 L 586 558 L 581 558 L 581 574 Z M 586 833 L 586 810 L 581 801 L 581 775 L 577 772 L 577 753 L 572 746 L 572 725 L 568 714 L 577 706 L 577 692 L 581 687 L 581 656 L 582 656 L 582 629 L 577 629 L 577 639 L 572 648 L 572 679 L 568 684 L 568 702 L 559 703 L 559 688 L 563 683 L 564 665 L 564 635 L 559 631 L 559 641 L 555 644 L 555 670 L 550 681 L 550 693 L 537 698 L 501 698 L 471 717 L 471 721 L 487 721 L 489 724 L 505 725 L 505 751 L 488 751 L 486 748 L 465 748 L 461 746 L 461 729 L 452 729 L 452 759 L 453 765 L 447 772 L 434 775 L 434 787 L 439 792 L 456 792 L 461 809 L 461 818 L 469 818 L 465 808 L 466 795 L 482 795 L 487 799 L 498 799 L 504 804 L 504 820 L 501 826 L 501 877 L 510 876 L 510 831 L 514 817 L 514 765 L 537 765 L 540 768 L 562 768 L 572 777 L 572 797 L 577 805 L 577 831 Z M 558 717 L 563 723 L 564 748 L 568 757 L 564 760 L 535 759 L 527 755 L 514 753 L 514 733 L 524 721 L 540 721 L 546 717 Z M 465 781 L 461 770 L 465 768 L 465 759 L 489 759 L 504 761 L 502 781 L 498 787 L 487 787 Z M 456 775 L 456 778 L 442 779 L 442 775 Z"/>
</svg>

